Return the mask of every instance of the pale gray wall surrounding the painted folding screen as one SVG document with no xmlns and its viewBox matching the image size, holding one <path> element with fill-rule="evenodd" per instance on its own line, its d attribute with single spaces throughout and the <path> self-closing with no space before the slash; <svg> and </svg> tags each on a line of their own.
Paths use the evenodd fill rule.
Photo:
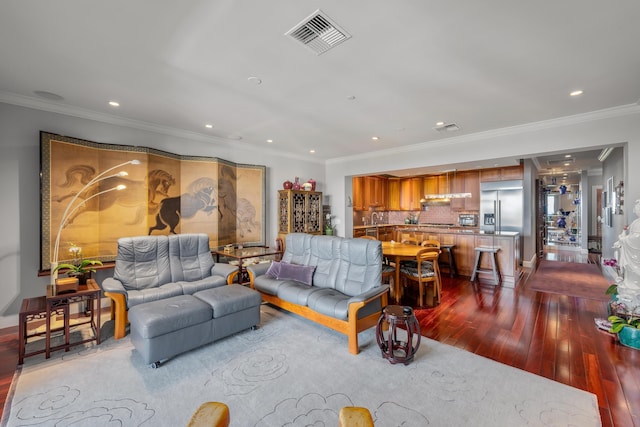
<svg viewBox="0 0 640 427">
<path fill-rule="evenodd" d="M 99 117 L 111 122 L 110 117 Z M 0 103 L 0 328 L 18 324 L 23 298 L 44 295 L 49 277 L 38 277 L 40 256 L 40 131 L 109 144 L 138 145 L 183 155 L 219 157 L 267 166 L 267 242 L 276 237 L 277 190 L 287 179 L 314 178 L 326 190 L 324 165 L 275 150 L 245 148 L 184 131 L 105 123 Z M 303 181 L 303 182 L 304 182 Z M 110 270 L 99 272 L 98 279 Z"/>
</svg>

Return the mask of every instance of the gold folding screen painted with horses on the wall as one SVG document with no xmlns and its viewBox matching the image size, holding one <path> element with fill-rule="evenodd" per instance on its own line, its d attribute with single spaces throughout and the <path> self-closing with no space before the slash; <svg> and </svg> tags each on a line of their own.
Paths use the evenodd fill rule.
<svg viewBox="0 0 640 427">
<path fill-rule="evenodd" d="M 264 245 L 266 167 L 40 132 L 40 269 L 113 261 L 124 236 L 206 233 Z M 73 248 L 73 250 L 71 250 Z"/>
</svg>

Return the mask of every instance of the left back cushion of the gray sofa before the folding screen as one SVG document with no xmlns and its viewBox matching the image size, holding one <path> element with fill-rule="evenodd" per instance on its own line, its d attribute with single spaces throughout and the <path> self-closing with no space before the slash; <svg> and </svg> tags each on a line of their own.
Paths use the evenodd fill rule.
<svg viewBox="0 0 640 427">
<path fill-rule="evenodd" d="M 125 290 L 141 290 L 171 282 L 167 236 L 118 239 L 113 277 Z"/>
</svg>

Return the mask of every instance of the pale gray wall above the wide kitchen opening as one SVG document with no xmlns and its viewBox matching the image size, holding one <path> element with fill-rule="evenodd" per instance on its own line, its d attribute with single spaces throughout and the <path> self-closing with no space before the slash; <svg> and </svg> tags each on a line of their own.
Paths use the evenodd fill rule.
<svg viewBox="0 0 640 427">
<path fill-rule="evenodd" d="M 352 214 L 346 210 L 345 204 L 350 188 L 346 188 L 345 182 L 347 177 L 353 175 L 383 174 L 425 166 L 446 167 L 463 162 L 473 164 L 478 160 L 531 158 L 546 153 L 584 151 L 624 143 L 627 143 L 627 164 L 640 164 L 640 106 L 635 104 L 509 129 L 332 159 L 327 162 L 326 168 L 328 191 L 334 195 L 334 214 L 343 221 L 347 218 L 351 222 Z M 640 199 L 640 168 L 625 170 L 625 183 L 628 183 L 625 188 L 626 200 Z M 531 177 L 525 179 L 530 180 Z M 627 212 L 624 216 L 626 218 Z M 528 232 L 531 233 L 532 229 Z M 349 225 L 345 224 L 340 235 L 350 231 Z M 525 235 L 523 259 L 531 259 L 534 254 L 535 238 L 530 234 Z"/>
</svg>

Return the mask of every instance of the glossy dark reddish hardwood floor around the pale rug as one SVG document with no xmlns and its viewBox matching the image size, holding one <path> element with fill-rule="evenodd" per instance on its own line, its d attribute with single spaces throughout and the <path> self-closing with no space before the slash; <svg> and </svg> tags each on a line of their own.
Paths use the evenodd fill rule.
<svg viewBox="0 0 640 427">
<path fill-rule="evenodd" d="M 546 257 L 587 262 L 576 252 Z M 603 426 L 640 427 L 640 351 L 595 328 L 606 303 L 530 291 L 530 274 L 516 289 L 444 277 L 441 304 L 417 311 L 422 334 L 594 393 Z M 17 360 L 17 327 L 0 330 L 0 408 Z"/>
</svg>

